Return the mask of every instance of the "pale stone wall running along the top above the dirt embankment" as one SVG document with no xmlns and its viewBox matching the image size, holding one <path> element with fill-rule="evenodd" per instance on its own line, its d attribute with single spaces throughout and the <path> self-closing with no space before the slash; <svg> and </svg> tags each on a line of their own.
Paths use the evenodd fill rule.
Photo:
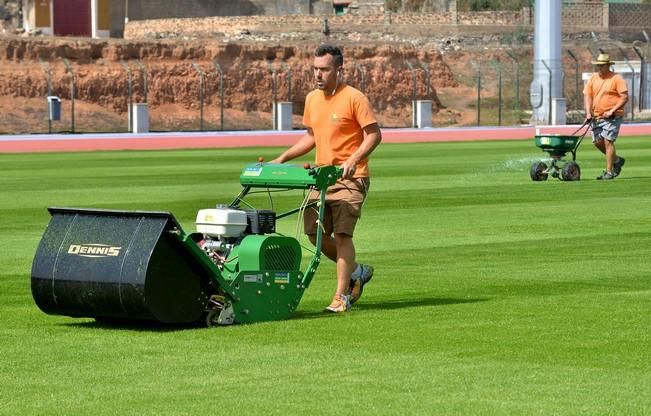
<svg viewBox="0 0 651 416">
<path fill-rule="evenodd" d="M 119 2 L 121 3 L 121 2 Z M 289 1 L 276 0 L 273 7 L 264 0 L 237 2 L 239 8 L 221 11 L 221 2 L 206 2 L 212 9 L 198 8 L 185 18 L 158 18 L 140 20 L 145 11 L 132 10 L 129 22 L 124 29 L 127 39 L 165 37 L 166 34 L 187 36 L 235 35 L 240 33 L 284 33 L 284 32 L 324 32 L 326 19 L 330 31 L 360 33 L 432 33 L 463 35 L 464 32 L 480 33 L 528 30 L 533 26 L 533 10 L 524 8 L 510 12 L 436 12 L 436 13 L 391 13 L 384 11 L 377 1 L 351 3 L 348 13 L 332 14 L 331 1 Z M 169 0 L 147 0 L 157 3 L 152 10 L 164 7 Z M 172 2 L 181 7 L 181 2 Z M 229 2 L 230 3 L 230 2 Z M 140 2 L 139 4 L 145 4 Z M 171 4 L 171 3 L 170 3 Z M 376 6 L 375 8 L 373 6 Z M 141 6 L 142 7 L 142 6 Z M 208 7 L 208 6 L 206 6 Z M 309 10 L 308 10 L 309 9 Z M 285 14 L 276 14 L 284 11 Z M 181 13 L 169 10 L 169 14 Z M 234 14 L 253 13 L 257 15 L 238 16 Z M 156 13 L 148 11 L 150 16 Z M 168 15 L 169 15 L 168 14 Z M 182 15 L 182 13 L 181 13 Z M 187 15 L 187 13 L 186 13 Z M 218 15 L 215 17 L 203 17 Z M 565 33 L 607 32 L 617 37 L 617 32 L 651 29 L 651 5 L 607 4 L 601 1 L 568 0 L 562 9 L 563 31 Z M 506 29 L 505 29 L 506 28 Z"/>
</svg>

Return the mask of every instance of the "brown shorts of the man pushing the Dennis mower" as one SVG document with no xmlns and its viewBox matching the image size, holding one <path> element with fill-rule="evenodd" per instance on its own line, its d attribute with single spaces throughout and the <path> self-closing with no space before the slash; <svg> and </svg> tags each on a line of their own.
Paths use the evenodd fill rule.
<svg viewBox="0 0 651 416">
<path fill-rule="evenodd" d="M 357 220 L 362 215 L 362 205 L 371 186 L 370 178 L 340 179 L 326 192 L 326 206 L 323 219 L 324 234 L 346 234 L 353 236 Z M 319 199 L 319 193 L 312 191 L 310 202 Z M 305 210 L 303 217 L 305 234 L 317 231 L 317 206 Z"/>
</svg>

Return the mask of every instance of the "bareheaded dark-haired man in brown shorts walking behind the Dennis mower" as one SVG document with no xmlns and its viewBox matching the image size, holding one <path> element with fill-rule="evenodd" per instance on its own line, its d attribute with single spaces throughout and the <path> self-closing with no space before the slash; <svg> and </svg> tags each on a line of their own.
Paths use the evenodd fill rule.
<svg viewBox="0 0 651 416">
<path fill-rule="evenodd" d="M 353 232 L 370 186 L 368 157 L 382 141 L 382 134 L 368 98 L 341 79 L 344 58 L 335 46 L 315 51 L 314 78 L 317 89 L 305 100 L 303 124 L 306 134 L 272 163 L 284 163 L 316 148 L 317 166 L 334 165 L 342 177 L 326 194 L 323 224 L 316 212 L 305 212 L 305 233 L 316 242 L 317 227 L 324 228 L 323 253 L 337 265 L 337 289 L 330 312 L 346 312 L 362 294 L 373 268 L 355 260 Z M 310 195 L 311 200 L 317 195 Z"/>
</svg>

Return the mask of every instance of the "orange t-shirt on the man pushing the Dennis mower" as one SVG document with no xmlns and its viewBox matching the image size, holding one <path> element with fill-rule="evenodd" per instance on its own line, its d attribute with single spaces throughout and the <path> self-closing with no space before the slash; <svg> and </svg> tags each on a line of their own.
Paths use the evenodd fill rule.
<svg viewBox="0 0 651 416">
<path fill-rule="evenodd" d="M 317 166 L 344 163 L 361 146 L 362 129 L 376 122 L 368 98 L 349 85 L 340 85 L 334 95 L 314 90 L 305 99 L 303 124 L 314 134 Z M 354 177 L 367 176 L 368 159 L 364 159 Z"/>
</svg>

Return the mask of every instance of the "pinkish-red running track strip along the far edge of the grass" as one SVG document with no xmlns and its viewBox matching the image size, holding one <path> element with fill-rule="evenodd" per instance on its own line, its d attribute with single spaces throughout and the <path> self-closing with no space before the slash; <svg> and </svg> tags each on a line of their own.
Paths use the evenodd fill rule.
<svg viewBox="0 0 651 416">
<path fill-rule="evenodd" d="M 576 133 L 577 126 L 383 129 L 384 143 L 525 140 Z M 0 136 L 0 153 L 290 146 L 301 131 Z M 624 124 L 622 136 L 651 135 L 651 124 Z"/>
</svg>

